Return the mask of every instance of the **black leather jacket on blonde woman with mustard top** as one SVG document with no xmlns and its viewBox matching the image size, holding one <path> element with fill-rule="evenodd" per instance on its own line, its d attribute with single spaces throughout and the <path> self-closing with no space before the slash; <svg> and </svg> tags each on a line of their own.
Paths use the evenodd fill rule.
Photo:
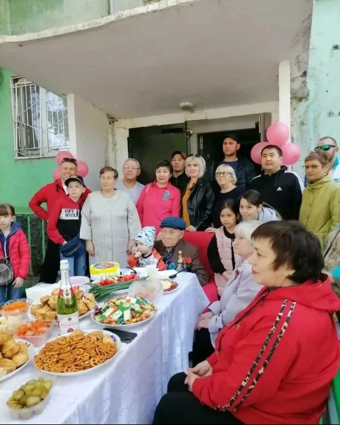
<svg viewBox="0 0 340 425">
<path fill-rule="evenodd" d="M 196 230 L 203 231 L 211 225 L 214 191 L 205 177 L 199 178 L 190 191 L 191 194 L 187 200 L 190 223 Z M 183 205 L 181 205 L 181 210 L 182 207 Z"/>
</svg>

